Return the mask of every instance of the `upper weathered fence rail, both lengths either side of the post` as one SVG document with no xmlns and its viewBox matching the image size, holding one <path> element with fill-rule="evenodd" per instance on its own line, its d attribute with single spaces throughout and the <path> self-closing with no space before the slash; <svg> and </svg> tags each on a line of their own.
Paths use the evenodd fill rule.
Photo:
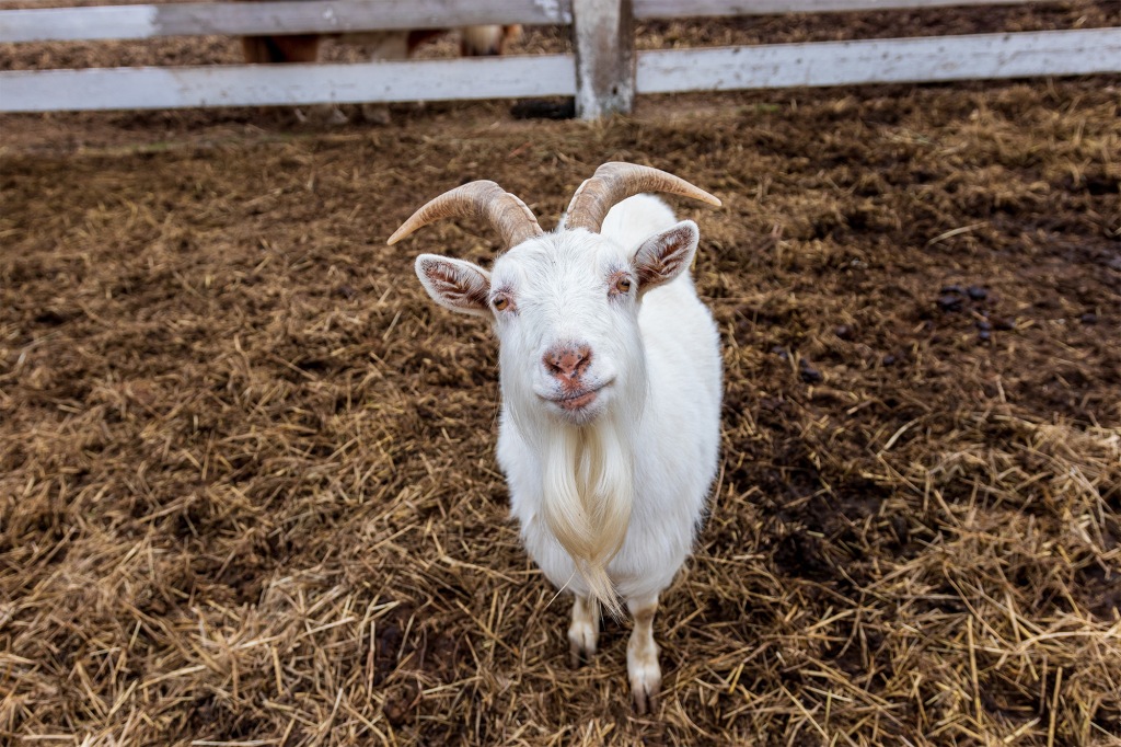
<svg viewBox="0 0 1121 747">
<path fill-rule="evenodd" d="M 1047 0 L 634 0 L 634 18 L 904 10 Z M 183 2 L 0 10 L 0 43 L 572 24 L 572 0 Z"/>
</svg>

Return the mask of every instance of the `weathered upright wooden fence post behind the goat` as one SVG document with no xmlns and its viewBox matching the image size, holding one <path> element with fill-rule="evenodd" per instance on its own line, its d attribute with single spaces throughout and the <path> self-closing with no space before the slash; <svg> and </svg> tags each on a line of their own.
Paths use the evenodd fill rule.
<svg viewBox="0 0 1121 747">
<path fill-rule="evenodd" d="M 599 119 L 634 105 L 631 0 L 573 0 L 576 116 Z"/>
</svg>

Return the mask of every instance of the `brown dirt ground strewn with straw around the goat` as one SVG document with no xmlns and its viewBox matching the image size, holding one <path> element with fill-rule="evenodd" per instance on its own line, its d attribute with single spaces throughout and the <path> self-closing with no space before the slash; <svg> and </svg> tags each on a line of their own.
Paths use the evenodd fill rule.
<svg viewBox="0 0 1121 747">
<path fill-rule="evenodd" d="M 1121 25 L 1109 2 L 926 12 L 868 25 Z M 643 44 L 758 30 L 682 28 Z M 1119 116 L 1114 76 L 651 98 L 600 123 L 0 118 L 0 735 L 1121 743 Z M 549 228 L 611 159 L 724 201 L 671 201 L 702 231 L 723 454 L 646 718 L 626 625 L 567 666 L 568 603 L 494 463 L 494 342 L 411 271 L 494 237 L 385 245 L 473 178 Z"/>
</svg>

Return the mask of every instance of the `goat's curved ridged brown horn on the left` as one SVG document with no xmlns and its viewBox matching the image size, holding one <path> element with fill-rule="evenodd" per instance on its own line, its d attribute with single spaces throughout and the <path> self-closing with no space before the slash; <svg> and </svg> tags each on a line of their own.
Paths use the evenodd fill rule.
<svg viewBox="0 0 1121 747">
<path fill-rule="evenodd" d="M 442 218 L 475 218 L 485 221 L 502 236 L 506 249 L 544 233 L 526 203 L 493 182 L 481 179 L 445 192 L 430 201 L 393 231 L 387 243 L 397 243 L 418 228 Z"/>
</svg>

